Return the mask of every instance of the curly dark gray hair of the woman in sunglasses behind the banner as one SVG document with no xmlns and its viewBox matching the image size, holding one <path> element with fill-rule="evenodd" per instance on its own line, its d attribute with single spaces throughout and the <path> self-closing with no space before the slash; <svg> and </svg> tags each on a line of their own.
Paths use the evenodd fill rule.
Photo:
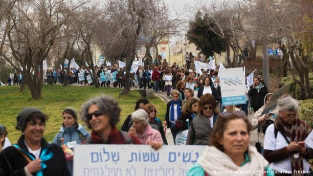
<svg viewBox="0 0 313 176">
<path fill-rule="evenodd" d="M 88 128 L 91 129 L 87 114 L 91 105 L 97 105 L 105 115 L 110 117 L 110 125 L 115 126 L 120 120 L 121 109 L 118 106 L 117 101 L 108 95 L 100 95 L 90 99 L 87 103 L 82 106 L 80 116 L 82 120 L 87 124 Z"/>
</svg>

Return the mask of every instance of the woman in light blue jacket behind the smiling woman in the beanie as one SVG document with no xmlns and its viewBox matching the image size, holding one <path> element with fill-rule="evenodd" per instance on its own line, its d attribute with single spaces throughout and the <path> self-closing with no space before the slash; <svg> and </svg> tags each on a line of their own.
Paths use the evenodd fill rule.
<svg viewBox="0 0 313 176">
<path fill-rule="evenodd" d="M 83 143 L 90 137 L 89 132 L 77 123 L 77 111 L 74 108 L 68 107 L 62 112 L 63 124 L 59 133 L 53 138 L 53 144 L 66 145 L 71 150 L 74 150 L 76 144 Z M 71 175 L 73 175 L 73 159 L 67 159 L 67 166 Z"/>
</svg>

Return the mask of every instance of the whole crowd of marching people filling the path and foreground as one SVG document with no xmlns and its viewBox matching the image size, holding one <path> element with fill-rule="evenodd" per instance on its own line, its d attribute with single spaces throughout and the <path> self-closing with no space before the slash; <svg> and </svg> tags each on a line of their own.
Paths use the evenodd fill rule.
<svg viewBox="0 0 313 176">
<path fill-rule="evenodd" d="M 103 66 L 98 72 L 105 69 L 117 70 L 115 66 Z M 55 75 L 53 70 L 49 72 Z M 114 87 L 123 87 L 123 69 L 119 73 L 118 77 L 122 77 Z M 287 94 L 278 99 L 274 110 L 262 114 L 272 93 L 268 93 L 261 76 L 254 77 L 252 86 L 246 86 L 246 102 L 251 102 L 255 112 L 250 121 L 247 105 L 241 109 L 221 105 L 218 70 L 203 70 L 200 76 L 192 66 L 160 65 L 152 69 L 139 66 L 134 76 L 138 78 L 139 88 L 166 91 L 171 98 L 163 122 L 154 104 L 139 99 L 134 112 L 118 130 L 119 105 L 114 98 L 100 95 L 80 110 L 80 118 L 91 132 L 78 123 L 77 110 L 68 107 L 62 112 L 60 131 L 50 144 L 43 137 L 47 115 L 37 108 L 25 108 L 17 116 L 16 128 L 22 131 L 20 139 L 4 150 L 7 131 L 0 125 L 0 176 L 73 175 L 75 145 L 136 144 L 158 150 L 168 145 L 166 129 L 170 129 L 174 144 L 178 133 L 188 130 L 186 145 L 208 146 L 188 176 L 313 174 L 308 162 L 313 158 L 313 149 L 303 142 L 312 128 L 298 118 L 298 102 Z M 110 83 L 102 86 L 109 87 Z M 252 146 L 249 145 L 250 132 L 256 129 L 258 142 Z"/>
</svg>

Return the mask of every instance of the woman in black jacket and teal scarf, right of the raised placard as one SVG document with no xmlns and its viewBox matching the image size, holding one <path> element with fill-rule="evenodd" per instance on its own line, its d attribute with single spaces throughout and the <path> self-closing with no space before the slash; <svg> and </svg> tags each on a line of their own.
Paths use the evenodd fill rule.
<svg viewBox="0 0 313 176">
<path fill-rule="evenodd" d="M 268 94 L 268 88 L 261 83 L 260 78 L 253 78 L 253 85 L 249 89 L 251 107 L 254 113 L 264 105 L 264 97 Z"/>
</svg>

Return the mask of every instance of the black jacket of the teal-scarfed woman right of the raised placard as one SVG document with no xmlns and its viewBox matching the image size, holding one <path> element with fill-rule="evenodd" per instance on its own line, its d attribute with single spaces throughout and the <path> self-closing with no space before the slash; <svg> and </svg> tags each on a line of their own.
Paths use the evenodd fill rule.
<svg viewBox="0 0 313 176">
<path fill-rule="evenodd" d="M 266 94 L 268 94 L 268 88 L 266 86 L 262 86 L 260 91 L 258 92 L 257 89 L 250 86 L 249 90 L 249 96 L 250 96 L 250 103 L 251 107 L 262 107 L 264 105 L 264 97 Z"/>
</svg>

